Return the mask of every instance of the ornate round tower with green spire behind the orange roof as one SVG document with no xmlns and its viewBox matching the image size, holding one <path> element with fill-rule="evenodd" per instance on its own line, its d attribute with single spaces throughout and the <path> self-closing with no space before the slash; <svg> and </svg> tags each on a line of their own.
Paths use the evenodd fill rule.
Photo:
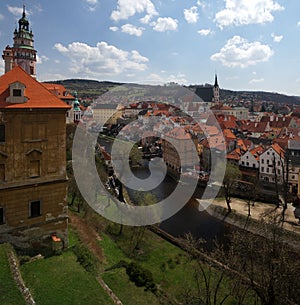
<svg viewBox="0 0 300 305">
<path fill-rule="evenodd" d="M 20 66 L 32 77 L 36 77 L 36 50 L 33 46 L 33 33 L 29 30 L 29 22 L 26 19 L 25 6 L 23 6 L 22 18 L 19 19 L 19 28 L 14 31 L 13 47 L 7 46 L 2 58 L 5 62 L 5 73 L 15 66 Z"/>
</svg>

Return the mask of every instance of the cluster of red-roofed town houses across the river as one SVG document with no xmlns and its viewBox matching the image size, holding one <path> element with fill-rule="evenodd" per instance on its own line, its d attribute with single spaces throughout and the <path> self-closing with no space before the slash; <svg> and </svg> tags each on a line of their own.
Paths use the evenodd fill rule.
<svg viewBox="0 0 300 305">
<path fill-rule="evenodd" d="M 133 105 L 131 116 L 137 120 L 126 126 L 132 140 L 161 137 L 163 158 L 170 170 L 211 169 L 212 154 L 238 165 L 247 179 L 264 183 L 288 180 L 289 189 L 298 192 L 300 172 L 300 120 L 298 116 L 258 113 L 251 119 L 228 114 L 228 106 L 217 111 L 199 112 L 194 120 L 176 107 L 153 102 Z M 137 111 L 139 110 L 139 112 Z M 120 115 L 124 108 L 120 108 Z M 130 106 L 127 114 L 130 113 Z M 151 134 L 152 134 L 151 133 Z M 148 140 L 149 141 L 149 140 Z M 196 147 L 197 158 L 193 154 Z M 180 159 L 179 156 L 185 156 Z"/>
</svg>

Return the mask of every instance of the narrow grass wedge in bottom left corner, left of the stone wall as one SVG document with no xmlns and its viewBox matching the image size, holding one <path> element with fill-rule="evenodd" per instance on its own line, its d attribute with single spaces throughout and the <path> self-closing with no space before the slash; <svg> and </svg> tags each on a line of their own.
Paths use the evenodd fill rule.
<svg viewBox="0 0 300 305">
<path fill-rule="evenodd" d="M 0 304 L 23 305 L 26 304 L 16 282 L 12 277 L 7 251 L 11 249 L 9 244 L 0 245 Z"/>
</svg>

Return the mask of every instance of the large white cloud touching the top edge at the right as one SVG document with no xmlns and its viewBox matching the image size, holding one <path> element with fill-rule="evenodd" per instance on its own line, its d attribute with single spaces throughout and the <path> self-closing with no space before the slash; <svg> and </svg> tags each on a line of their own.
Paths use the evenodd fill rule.
<svg viewBox="0 0 300 305">
<path fill-rule="evenodd" d="M 220 28 L 272 22 L 272 13 L 283 9 L 273 0 L 225 0 L 225 9 L 216 13 L 215 21 Z"/>
</svg>

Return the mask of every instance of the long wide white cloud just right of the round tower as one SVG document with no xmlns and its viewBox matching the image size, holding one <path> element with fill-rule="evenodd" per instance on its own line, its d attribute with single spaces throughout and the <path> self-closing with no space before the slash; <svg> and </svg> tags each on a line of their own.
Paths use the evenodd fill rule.
<svg viewBox="0 0 300 305">
<path fill-rule="evenodd" d="M 124 51 L 104 41 L 95 47 L 73 42 L 68 46 L 57 43 L 54 48 L 70 59 L 70 71 L 81 76 L 111 76 L 147 69 L 148 58 L 138 51 Z"/>
</svg>

